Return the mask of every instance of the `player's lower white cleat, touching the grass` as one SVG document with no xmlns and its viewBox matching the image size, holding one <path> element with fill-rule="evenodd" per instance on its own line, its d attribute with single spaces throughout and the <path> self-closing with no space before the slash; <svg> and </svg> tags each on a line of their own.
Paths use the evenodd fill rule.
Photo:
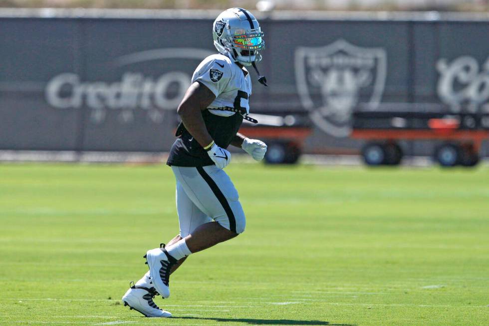
<svg viewBox="0 0 489 326">
<path fill-rule="evenodd" d="M 155 288 L 145 288 L 132 285 L 126 294 L 122 297 L 124 306 L 129 306 L 145 317 L 172 317 L 172 314 L 160 309 L 153 301 L 155 295 L 158 295 Z"/>
</svg>

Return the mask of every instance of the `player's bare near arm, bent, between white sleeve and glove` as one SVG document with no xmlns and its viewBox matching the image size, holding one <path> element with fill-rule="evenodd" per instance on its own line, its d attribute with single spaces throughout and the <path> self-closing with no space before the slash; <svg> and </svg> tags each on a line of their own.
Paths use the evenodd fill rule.
<svg viewBox="0 0 489 326">
<path fill-rule="evenodd" d="M 207 131 L 202 111 L 209 107 L 216 95 L 205 85 L 194 82 L 184 95 L 177 112 L 188 132 L 202 146 L 206 147 L 213 142 Z"/>
</svg>

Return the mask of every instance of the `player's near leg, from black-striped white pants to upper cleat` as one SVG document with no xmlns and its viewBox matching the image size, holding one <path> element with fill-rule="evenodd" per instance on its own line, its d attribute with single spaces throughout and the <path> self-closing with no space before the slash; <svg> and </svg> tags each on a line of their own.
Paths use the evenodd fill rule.
<svg viewBox="0 0 489 326">
<path fill-rule="evenodd" d="M 200 223 L 189 235 L 171 246 L 156 248 L 146 253 L 153 283 L 164 297 L 170 296 L 168 288 L 170 271 L 177 261 L 195 252 L 212 247 L 236 237 L 245 230 L 245 214 L 239 202 L 238 191 L 224 170 L 216 166 L 175 167 L 172 170 L 177 183 L 184 189 L 198 211 L 216 222 Z M 181 230 L 182 232 L 182 230 Z M 181 236 L 184 234 L 181 233 Z M 189 248 L 187 241 L 189 241 Z"/>
</svg>

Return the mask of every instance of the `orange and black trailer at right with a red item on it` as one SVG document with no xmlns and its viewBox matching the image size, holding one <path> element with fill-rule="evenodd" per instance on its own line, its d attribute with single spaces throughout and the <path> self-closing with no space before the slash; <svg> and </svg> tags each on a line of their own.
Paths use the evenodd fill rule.
<svg viewBox="0 0 489 326">
<path fill-rule="evenodd" d="M 357 111 L 352 138 L 366 141 L 367 165 L 398 165 L 404 155 L 400 141 L 434 140 L 432 153 L 442 166 L 475 166 L 482 142 L 489 138 L 489 113 Z"/>
</svg>

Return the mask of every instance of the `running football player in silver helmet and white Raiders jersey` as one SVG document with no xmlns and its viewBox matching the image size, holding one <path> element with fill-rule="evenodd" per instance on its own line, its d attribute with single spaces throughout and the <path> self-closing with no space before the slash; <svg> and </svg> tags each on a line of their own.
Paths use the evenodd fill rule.
<svg viewBox="0 0 489 326">
<path fill-rule="evenodd" d="M 167 246 L 148 250 L 149 271 L 122 297 L 146 317 L 170 317 L 153 302 L 170 296 L 169 278 L 194 253 L 230 240 L 245 231 L 245 213 L 238 191 L 223 170 L 231 162 L 229 145 L 243 148 L 253 159 L 263 159 L 266 145 L 238 130 L 248 116 L 252 65 L 266 86 L 255 62 L 264 49 L 263 32 L 256 18 L 243 8 L 223 11 L 214 21 L 214 45 L 219 54 L 205 58 L 178 107 L 182 123 L 167 164 L 176 178 L 180 233 Z"/>
</svg>

